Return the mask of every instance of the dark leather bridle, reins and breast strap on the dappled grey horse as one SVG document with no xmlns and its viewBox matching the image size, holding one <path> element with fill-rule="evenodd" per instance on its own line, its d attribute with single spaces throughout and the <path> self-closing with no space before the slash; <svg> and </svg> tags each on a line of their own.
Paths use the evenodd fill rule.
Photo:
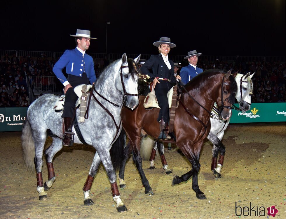
<svg viewBox="0 0 286 219">
<path fill-rule="evenodd" d="M 114 105 L 115 107 L 122 107 L 123 106 L 123 103 L 127 97 L 127 95 L 129 96 L 138 96 L 138 94 L 132 94 L 132 93 L 127 93 L 126 92 L 126 89 L 125 89 L 125 85 L 124 85 L 124 82 L 123 82 L 123 74 L 122 74 L 122 68 L 128 68 L 128 66 L 122 66 L 121 65 L 121 68 L 120 68 L 120 77 L 121 77 L 121 83 L 122 83 L 122 87 L 123 87 L 123 100 L 122 100 L 122 104 L 121 105 L 118 105 L 116 103 L 113 103 L 111 102 L 110 100 L 108 100 L 107 98 L 105 98 L 104 96 L 102 96 L 100 93 L 98 93 L 96 90 L 95 90 L 95 86 L 94 84 L 92 85 L 92 88 L 91 88 L 91 92 L 90 92 L 90 95 L 89 95 L 89 98 L 88 98 L 88 105 L 87 105 L 87 108 L 86 108 L 86 113 L 84 115 L 84 118 L 85 119 L 88 119 L 88 112 L 89 112 L 89 105 L 90 105 L 90 100 L 91 100 L 91 97 L 93 97 L 95 99 L 95 101 L 102 107 L 102 109 L 105 110 L 105 112 L 107 112 L 107 114 L 109 114 L 109 116 L 112 118 L 113 122 L 114 122 L 114 125 L 116 127 L 116 135 L 114 137 L 114 139 L 112 140 L 112 142 L 115 140 L 116 136 L 118 135 L 119 133 L 119 129 L 121 127 L 121 120 L 120 120 L 120 123 L 119 123 L 119 126 L 116 124 L 116 121 L 114 119 L 114 116 L 111 114 L 111 112 L 106 108 L 104 107 L 104 105 L 102 105 L 102 103 L 100 103 L 100 101 L 95 97 L 94 93 L 93 93 L 93 90 L 95 91 L 95 93 L 100 96 L 102 99 L 106 100 L 107 102 L 111 103 L 112 105 Z"/>
</svg>

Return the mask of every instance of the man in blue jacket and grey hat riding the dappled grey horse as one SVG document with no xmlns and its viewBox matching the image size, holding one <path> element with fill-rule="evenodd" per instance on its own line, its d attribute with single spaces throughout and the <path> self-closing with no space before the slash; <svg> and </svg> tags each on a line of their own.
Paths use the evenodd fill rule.
<svg viewBox="0 0 286 219">
<path fill-rule="evenodd" d="M 64 111 L 62 118 L 64 118 L 65 135 L 62 140 L 63 146 L 72 145 L 72 122 L 75 115 L 75 103 L 78 96 L 74 93 L 74 87 L 80 84 L 94 84 L 96 81 L 93 58 L 86 54 L 90 46 L 89 30 L 76 30 L 75 37 L 76 48 L 73 50 L 66 50 L 60 57 L 59 61 L 55 63 L 53 72 L 57 78 L 64 85 Z M 62 69 L 66 68 L 68 77 L 66 78 L 62 73 Z"/>
</svg>

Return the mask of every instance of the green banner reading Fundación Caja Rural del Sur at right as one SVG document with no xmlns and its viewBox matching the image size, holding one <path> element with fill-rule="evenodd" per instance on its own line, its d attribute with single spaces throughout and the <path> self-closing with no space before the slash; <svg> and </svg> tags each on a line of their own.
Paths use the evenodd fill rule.
<svg viewBox="0 0 286 219">
<path fill-rule="evenodd" d="M 252 103 L 247 112 L 232 110 L 230 123 L 248 122 L 286 122 L 286 103 Z"/>
</svg>

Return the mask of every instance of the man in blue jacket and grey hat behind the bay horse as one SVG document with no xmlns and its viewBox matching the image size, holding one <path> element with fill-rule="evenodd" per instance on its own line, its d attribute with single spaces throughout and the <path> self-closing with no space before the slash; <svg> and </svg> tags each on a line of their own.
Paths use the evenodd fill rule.
<svg viewBox="0 0 286 219">
<path fill-rule="evenodd" d="M 203 69 L 197 67 L 198 56 L 201 53 L 197 53 L 196 50 L 188 52 L 188 55 L 184 59 L 188 59 L 189 65 L 183 67 L 180 71 L 183 84 L 188 83 L 192 78 L 203 72 Z"/>
</svg>

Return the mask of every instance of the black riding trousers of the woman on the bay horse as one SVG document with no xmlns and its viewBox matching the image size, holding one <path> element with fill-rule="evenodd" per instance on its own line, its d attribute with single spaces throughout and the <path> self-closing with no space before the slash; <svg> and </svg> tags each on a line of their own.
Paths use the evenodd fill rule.
<svg viewBox="0 0 286 219">
<path fill-rule="evenodd" d="M 169 123 L 169 103 L 168 103 L 168 91 L 171 89 L 171 83 L 169 81 L 159 80 L 155 86 L 155 95 L 158 100 L 158 105 L 161 108 L 157 121 L 159 122 L 162 117 L 165 123 Z"/>
</svg>

